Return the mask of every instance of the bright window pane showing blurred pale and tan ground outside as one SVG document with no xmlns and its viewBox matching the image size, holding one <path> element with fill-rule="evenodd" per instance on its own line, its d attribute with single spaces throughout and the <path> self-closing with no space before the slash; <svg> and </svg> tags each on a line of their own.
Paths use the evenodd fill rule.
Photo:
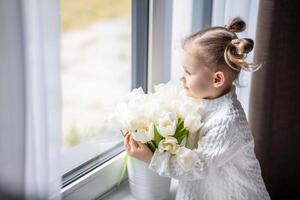
<svg viewBox="0 0 300 200">
<path fill-rule="evenodd" d="M 121 146 L 105 117 L 132 88 L 131 0 L 61 0 L 60 9 L 66 175 Z"/>
</svg>

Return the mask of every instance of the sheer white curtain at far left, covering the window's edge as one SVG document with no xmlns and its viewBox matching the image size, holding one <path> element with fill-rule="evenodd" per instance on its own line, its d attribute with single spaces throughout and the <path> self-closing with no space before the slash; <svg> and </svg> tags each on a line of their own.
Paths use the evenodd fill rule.
<svg viewBox="0 0 300 200">
<path fill-rule="evenodd" d="M 0 1 L 0 197 L 60 199 L 58 0 Z"/>
</svg>

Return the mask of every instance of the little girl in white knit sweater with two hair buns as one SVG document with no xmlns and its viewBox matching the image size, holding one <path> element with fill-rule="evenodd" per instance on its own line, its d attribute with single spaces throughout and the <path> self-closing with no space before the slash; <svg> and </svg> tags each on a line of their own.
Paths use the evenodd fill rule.
<svg viewBox="0 0 300 200">
<path fill-rule="evenodd" d="M 234 81 L 240 71 L 254 71 L 244 59 L 253 40 L 238 38 L 245 22 L 237 17 L 225 27 L 201 30 L 183 42 L 180 78 L 186 95 L 203 106 L 204 125 L 198 131 L 192 167 L 181 168 L 176 155 L 154 154 L 127 134 L 127 153 L 149 164 L 161 176 L 178 179 L 176 200 L 270 199 L 254 153 L 254 140 Z M 193 137 L 194 138 L 194 137 Z"/>
</svg>

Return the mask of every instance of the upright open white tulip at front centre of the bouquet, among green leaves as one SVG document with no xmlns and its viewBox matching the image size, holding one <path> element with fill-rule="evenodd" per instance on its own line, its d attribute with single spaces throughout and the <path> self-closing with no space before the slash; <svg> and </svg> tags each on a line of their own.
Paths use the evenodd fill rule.
<svg viewBox="0 0 300 200">
<path fill-rule="evenodd" d="M 158 118 L 157 130 L 163 137 L 174 135 L 176 131 L 177 116 L 175 113 L 164 112 Z"/>
</svg>

